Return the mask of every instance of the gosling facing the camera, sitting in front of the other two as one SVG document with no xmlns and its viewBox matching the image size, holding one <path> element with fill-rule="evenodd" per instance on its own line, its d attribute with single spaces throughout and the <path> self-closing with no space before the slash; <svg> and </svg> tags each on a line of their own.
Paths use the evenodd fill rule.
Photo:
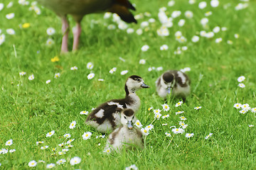
<svg viewBox="0 0 256 170">
<path fill-rule="evenodd" d="M 121 151 L 123 147 L 132 149 L 132 147 L 144 148 L 142 132 L 134 127 L 136 122 L 134 111 L 130 108 L 122 110 L 121 123 L 119 128 L 115 129 L 107 140 L 105 149 Z"/>
</svg>

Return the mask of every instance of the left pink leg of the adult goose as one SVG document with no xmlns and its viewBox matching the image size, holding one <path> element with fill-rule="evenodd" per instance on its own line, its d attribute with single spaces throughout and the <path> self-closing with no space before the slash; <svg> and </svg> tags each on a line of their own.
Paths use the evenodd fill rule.
<svg viewBox="0 0 256 170">
<path fill-rule="evenodd" d="M 68 19 L 67 16 L 61 17 L 63 40 L 61 43 L 61 53 L 68 52 Z"/>
</svg>

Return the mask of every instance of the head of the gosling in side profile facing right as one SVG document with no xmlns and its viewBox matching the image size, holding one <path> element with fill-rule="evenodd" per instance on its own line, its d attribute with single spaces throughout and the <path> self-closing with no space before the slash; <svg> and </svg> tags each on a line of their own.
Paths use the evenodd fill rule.
<svg viewBox="0 0 256 170">
<path fill-rule="evenodd" d="M 129 91 L 135 92 L 139 89 L 146 88 L 149 88 L 149 86 L 144 83 L 142 77 L 136 75 L 130 76 L 125 83 L 125 91 L 127 91 L 128 93 Z"/>
</svg>

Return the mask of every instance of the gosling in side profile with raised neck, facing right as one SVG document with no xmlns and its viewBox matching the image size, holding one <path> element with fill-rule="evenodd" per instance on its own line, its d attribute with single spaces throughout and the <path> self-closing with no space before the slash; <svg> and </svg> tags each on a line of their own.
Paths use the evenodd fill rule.
<svg viewBox="0 0 256 170">
<path fill-rule="evenodd" d="M 139 96 L 135 92 L 144 88 L 149 88 L 149 86 L 144 83 L 142 77 L 136 75 L 129 77 L 124 86 L 125 98 L 102 103 L 88 115 L 85 124 L 104 133 L 114 130 L 114 128 L 121 124 L 120 111 L 122 109 L 132 108 L 134 112 L 139 110 L 141 103 Z"/>
</svg>

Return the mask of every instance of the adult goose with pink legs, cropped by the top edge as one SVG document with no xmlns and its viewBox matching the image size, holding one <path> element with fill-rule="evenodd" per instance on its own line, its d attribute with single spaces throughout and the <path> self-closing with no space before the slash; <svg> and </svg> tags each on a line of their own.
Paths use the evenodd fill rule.
<svg viewBox="0 0 256 170">
<path fill-rule="evenodd" d="M 79 38 L 83 16 L 89 13 L 112 12 L 117 13 L 127 23 L 137 23 L 129 9 L 135 10 L 129 0 L 37 0 L 43 6 L 54 11 L 62 21 L 63 40 L 61 52 L 68 52 L 68 30 L 67 15 L 73 16 L 76 26 L 73 30 L 73 50 L 78 49 Z"/>
</svg>

